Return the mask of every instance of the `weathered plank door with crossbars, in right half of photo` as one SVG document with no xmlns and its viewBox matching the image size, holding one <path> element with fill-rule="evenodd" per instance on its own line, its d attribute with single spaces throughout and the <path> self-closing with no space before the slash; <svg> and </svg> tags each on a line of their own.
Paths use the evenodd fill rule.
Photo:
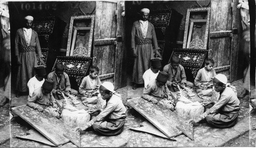
<svg viewBox="0 0 256 148">
<path fill-rule="evenodd" d="M 215 60 L 215 70 L 230 82 L 238 79 L 240 21 L 238 1 L 212 0 L 208 57 Z"/>
</svg>

